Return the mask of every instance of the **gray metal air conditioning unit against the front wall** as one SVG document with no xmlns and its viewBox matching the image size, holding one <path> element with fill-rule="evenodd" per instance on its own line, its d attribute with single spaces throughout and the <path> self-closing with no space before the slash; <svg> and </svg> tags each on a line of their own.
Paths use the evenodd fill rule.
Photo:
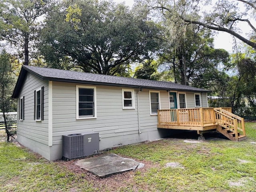
<svg viewBox="0 0 256 192">
<path fill-rule="evenodd" d="M 62 138 L 62 160 L 99 153 L 99 133 L 70 134 Z"/>
</svg>

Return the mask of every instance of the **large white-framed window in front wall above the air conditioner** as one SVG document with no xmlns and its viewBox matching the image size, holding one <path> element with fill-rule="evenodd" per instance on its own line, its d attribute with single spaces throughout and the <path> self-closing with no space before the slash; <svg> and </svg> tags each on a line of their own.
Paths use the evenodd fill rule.
<svg viewBox="0 0 256 192">
<path fill-rule="evenodd" d="M 96 118 L 96 87 L 76 86 L 76 118 Z"/>
</svg>

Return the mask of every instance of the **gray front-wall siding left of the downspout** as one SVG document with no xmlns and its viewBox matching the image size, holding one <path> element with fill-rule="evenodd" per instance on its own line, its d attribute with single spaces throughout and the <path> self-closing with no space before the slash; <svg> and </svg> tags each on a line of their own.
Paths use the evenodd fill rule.
<svg viewBox="0 0 256 192">
<path fill-rule="evenodd" d="M 86 85 L 90 86 L 90 85 Z M 96 86 L 97 118 L 76 120 L 76 84 L 53 82 L 53 145 L 62 143 L 62 135 L 99 132 L 101 139 L 138 133 L 137 90 L 135 109 L 122 109 L 122 88 Z M 118 145 L 118 143 L 114 144 Z M 104 146 L 102 146 L 102 149 Z"/>
</svg>

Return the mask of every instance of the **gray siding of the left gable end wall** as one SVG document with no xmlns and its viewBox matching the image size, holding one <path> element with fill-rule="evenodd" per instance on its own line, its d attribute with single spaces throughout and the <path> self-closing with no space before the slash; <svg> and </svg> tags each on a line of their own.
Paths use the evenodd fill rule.
<svg viewBox="0 0 256 192">
<path fill-rule="evenodd" d="M 36 122 L 34 120 L 34 90 L 41 88 L 42 86 L 44 86 L 44 120 Z M 24 142 L 25 138 L 29 138 L 29 140 L 48 146 L 48 80 L 42 81 L 36 76 L 28 73 L 20 90 L 17 108 L 17 139 L 20 141 L 19 138 L 22 138 L 22 141 Z M 23 96 L 25 102 L 24 120 L 20 121 L 20 97 Z M 29 143 L 30 142 L 27 144 Z"/>
</svg>

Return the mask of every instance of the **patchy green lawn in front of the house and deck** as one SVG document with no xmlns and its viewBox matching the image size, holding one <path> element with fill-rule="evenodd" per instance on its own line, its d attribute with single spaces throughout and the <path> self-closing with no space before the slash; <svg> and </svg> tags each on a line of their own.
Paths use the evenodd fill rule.
<svg viewBox="0 0 256 192">
<path fill-rule="evenodd" d="M 145 163 L 145 167 L 108 178 L 96 178 L 70 162 L 48 162 L 12 143 L 0 142 L 0 191 L 126 191 L 126 192 L 255 192 L 256 123 L 246 123 L 241 142 L 184 138 L 118 147 L 110 150 Z M 182 168 L 167 167 L 179 163 Z"/>
</svg>

